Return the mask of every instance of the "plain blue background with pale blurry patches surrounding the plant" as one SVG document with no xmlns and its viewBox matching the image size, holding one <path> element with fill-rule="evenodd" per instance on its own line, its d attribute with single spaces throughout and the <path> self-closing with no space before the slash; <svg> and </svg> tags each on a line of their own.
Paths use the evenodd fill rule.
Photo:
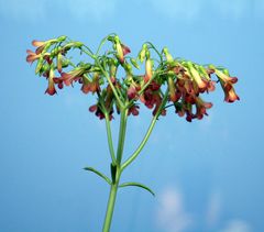
<svg viewBox="0 0 264 232">
<path fill-rule="evenodd" d="M 122 177 L 156 197 L 121 189 L 111 231 L 264 231 L 263 29 L 263 0 L 0 0 L 0 231 L 101 231 L 109 189 L 81 169 L 109 174 L 105 124 L 87 110 L 95 100 L 77 86 L 44 95 L 25 49 L 64 34 L 95 49 L 111 32 L 132 55 L 151 41 L 176 57 L 229 67 L 241 98 L 223 102 L 218 86 L 206 96 L 213 108 L 205 120 L 170 111 L 158 121 Z M 150 120 L 144 110 L 130 118 L 124 155 Z"/>
</svg>

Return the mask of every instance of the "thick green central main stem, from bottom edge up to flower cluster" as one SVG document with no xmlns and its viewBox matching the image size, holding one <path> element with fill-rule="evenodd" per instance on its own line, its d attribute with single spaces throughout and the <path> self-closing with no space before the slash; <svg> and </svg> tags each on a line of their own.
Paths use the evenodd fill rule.
<svg viewBox="0 0 264 232">
<path fill-rule="evenodd" d="M 113 209 L 114 203 L 117 199 L 117 192 L 119 187 L 119 180 L 121 177 L 121 162 L 122 162 L 122 155 L 123 155 L 123 146 L 124 146 L 124 137 L 125 137 L 125 130 L 127 130 L 127 119 L 128 119 L 128 109 L 122 108 L 121 109 L 121 118 L 120 118 L 120 128 L 119 128 L 119 143 L 118 143 L 118 150 L 117 150 L 117 164 L 113 165 L 112 173 L 112 183 L 111 183 L 111 189 L 109 194 L 108 199 L 108 207 L 103 223 L 103 232 L 109 232 L 111 228 L 112 222 L 112 216 L 113 216 Z"/>
</svg>

